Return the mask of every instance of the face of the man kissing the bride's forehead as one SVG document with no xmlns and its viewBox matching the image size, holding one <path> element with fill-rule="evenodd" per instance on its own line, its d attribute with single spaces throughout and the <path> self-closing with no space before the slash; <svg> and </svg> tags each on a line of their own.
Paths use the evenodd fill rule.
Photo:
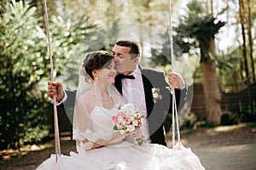
<svg viewBox="0 0 256 170">
<path fill-rule="evenodd" d="M 130 47 L 119 45 L 114 45 L 112 50 L 116 70 L 125 75 L 135 71 L 138 63 L 138 58 L 131 58 L 130 50 Z"/>
</svg>

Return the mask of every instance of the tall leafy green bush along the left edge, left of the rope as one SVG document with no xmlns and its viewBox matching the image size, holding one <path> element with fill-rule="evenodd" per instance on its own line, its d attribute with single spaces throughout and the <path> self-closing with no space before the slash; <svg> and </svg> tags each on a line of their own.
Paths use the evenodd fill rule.
<svg viewBox="0 0 256 170">
<path fill-rule="evenodd" d="M 0 20 L 0 149 L 19 149 L 48 132 L 42 126 L 46 105 L 36 88 L 44 77 L 45 59 L 40 51 L 45 45 L 36 29 L 36 8 L 12 1 Z"/>
</svg>

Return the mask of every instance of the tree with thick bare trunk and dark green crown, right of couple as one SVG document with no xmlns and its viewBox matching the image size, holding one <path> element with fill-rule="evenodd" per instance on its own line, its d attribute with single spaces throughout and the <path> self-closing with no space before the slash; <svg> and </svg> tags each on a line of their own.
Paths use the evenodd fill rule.
<svg viewBox="0 0 256 170">
<path fill-rule="evenodd" d="M 207 122 L 218 125 L 222 116 L 221 93 L 218 86 L 214 59 L 214 37 L 224 22 L 217 21 L 212 14 L 207 14 L 201 3 L 196 0 L 188 3 L 189 13 L 183 16 L 177 28 L 184 39 L 195 38 L 201 49 L 201 70 L 203 72 L 203 90 L 206 103 Z M 187 42 L 187 41 L 186 41 Z"/>
</svg>

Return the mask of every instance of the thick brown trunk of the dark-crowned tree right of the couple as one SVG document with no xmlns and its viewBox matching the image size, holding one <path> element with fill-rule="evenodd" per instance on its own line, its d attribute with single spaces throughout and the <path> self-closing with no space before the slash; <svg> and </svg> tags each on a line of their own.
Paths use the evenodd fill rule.
<svg viewBox="0 0 256 170">
<path fill-rule="evenodd" d="M 203 60 L 203 62 L 201 62 L 201 70 L 203 72 L 203 90 L 207 123 L 219 125 L 222 116 L 221 93 L 218 86 L 215 63 L 210 59 L 210 55 L 215 54 L 214 39 L 212 38 L 210 41 L 201 41 L 200 47 L 201 55 L 205 57 L 208 56 L 207 59 L 201 59 Z"/>
</svg>

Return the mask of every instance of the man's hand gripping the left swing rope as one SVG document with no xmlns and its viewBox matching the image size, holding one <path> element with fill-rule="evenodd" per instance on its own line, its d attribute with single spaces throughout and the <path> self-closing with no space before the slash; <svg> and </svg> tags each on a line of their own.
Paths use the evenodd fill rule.
<svg viewBox="0 0 256 170">
<path fill-rule="evenodd" d="M 48 82 L 48 92 L 49 98 L 53 99 L 56 97 L 57 102 L 61 102 L 63 99 L 63 89 L 60 82 Z"/>
</svg>

